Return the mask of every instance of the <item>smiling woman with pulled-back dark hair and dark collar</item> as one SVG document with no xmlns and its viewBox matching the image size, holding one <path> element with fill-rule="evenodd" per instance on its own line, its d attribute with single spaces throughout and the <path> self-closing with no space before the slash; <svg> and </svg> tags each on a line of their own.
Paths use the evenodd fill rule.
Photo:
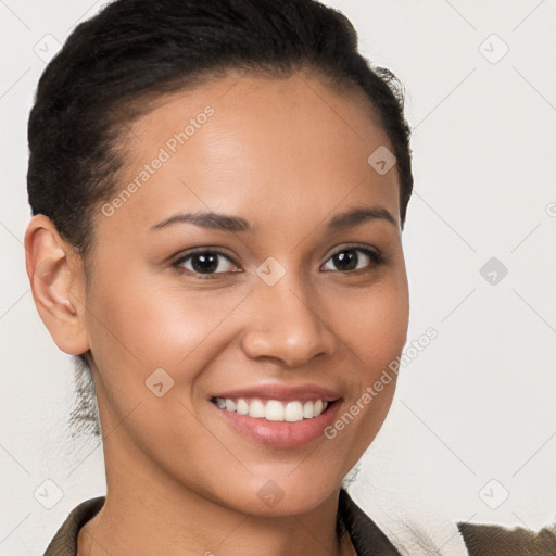
<svg viewBox="0 0 556 556">
<path fill-rule="evenodd" d="M 46 70 L 27 270 L 93 378 L 108 484 L 47 556 L 400 554 L 341 488 L 408 323 L 409 128 L 356 48 L 313 0 L 119 0 Z"/>
</svg>

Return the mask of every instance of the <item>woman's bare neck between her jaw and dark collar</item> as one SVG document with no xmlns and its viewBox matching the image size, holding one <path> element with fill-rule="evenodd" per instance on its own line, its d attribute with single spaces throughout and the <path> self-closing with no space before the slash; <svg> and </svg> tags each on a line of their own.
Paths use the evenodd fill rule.
<svg viewBox="0 0 556 556">
<path fill-rule="evenodd" d="M 130 468 L 106 466 L 106 500 L 81 529 L 78 556 L 341 554 L 338 490 L 305 514 L 260 516 L 213 502 L 162 472 L 153 476 L 152 463 Z"/>
</svg>

